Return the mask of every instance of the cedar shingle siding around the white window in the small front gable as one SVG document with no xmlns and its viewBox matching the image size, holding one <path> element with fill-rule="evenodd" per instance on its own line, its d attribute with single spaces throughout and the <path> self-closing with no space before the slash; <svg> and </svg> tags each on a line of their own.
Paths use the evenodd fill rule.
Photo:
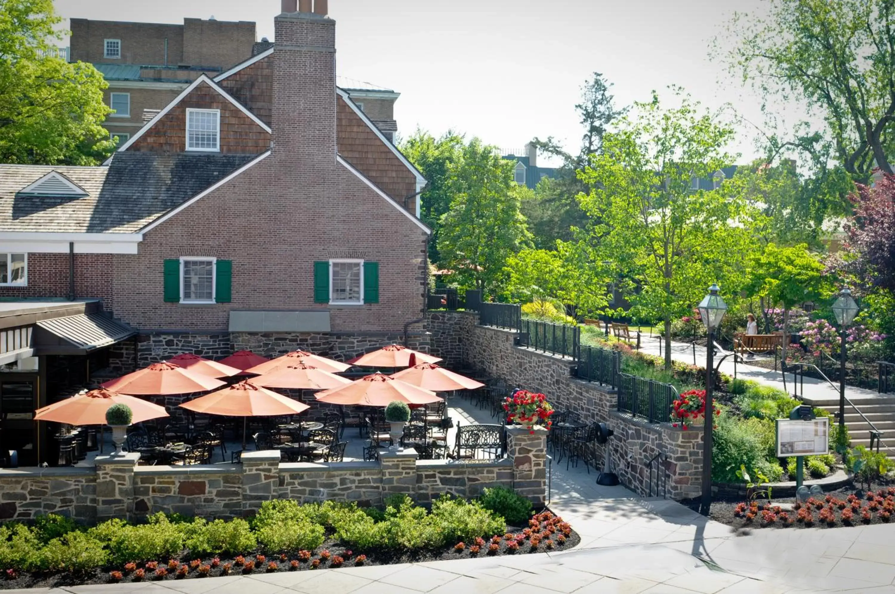
<svg viewBox="0 0 895 594">
<path fill-rule="evenodd" d="M 225 155 L 260 155 L 270 148 L 270 134 L 239 107 L 205 82 L 184 97 L 158 120 L 128 150 L 154 153 L 182 153 L 186 150 L 186 110 L 221 111 L 221 152 Z"/>
</svg>

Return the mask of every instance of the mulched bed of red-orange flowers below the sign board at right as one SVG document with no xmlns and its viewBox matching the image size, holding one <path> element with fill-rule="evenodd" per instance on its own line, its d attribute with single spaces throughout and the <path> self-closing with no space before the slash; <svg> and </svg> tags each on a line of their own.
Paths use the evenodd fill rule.
<svg viewBox="0 0 895 594">
<path fill-rule="evenodd" d="M 869 524 L 895 523 L 895 487 L 871 485 L 870 490 L 854 486 L 839 488 L 813 496 L 805 503 L 794 497 L 767 500 L 712 501 L 709 517 L 736 530 L 787 528 L 842 528 Z M 681 502 L 690 509 L 699 509 L 699 500 Z M 782 509 L 787 505 L 791 509 Z"/>
</svg>

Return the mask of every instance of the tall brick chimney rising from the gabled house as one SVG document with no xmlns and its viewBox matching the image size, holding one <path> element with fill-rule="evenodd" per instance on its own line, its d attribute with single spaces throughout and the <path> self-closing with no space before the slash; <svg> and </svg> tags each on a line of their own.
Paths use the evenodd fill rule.
<svg viewBox="0 0 895 594">
<path fill-rule="evenodd" d="M 301 0 L 299 9 L 311 4 Z M 283 0 L 284 13 L 274 20 L 272 157 L 300 166 L 335 164 L 336 154 L 336 21 L 327 3 L 315 0 L 314 12 L 295 11 Z M 285 12 L 286 9 L 291 12 Z"/>
</svg>

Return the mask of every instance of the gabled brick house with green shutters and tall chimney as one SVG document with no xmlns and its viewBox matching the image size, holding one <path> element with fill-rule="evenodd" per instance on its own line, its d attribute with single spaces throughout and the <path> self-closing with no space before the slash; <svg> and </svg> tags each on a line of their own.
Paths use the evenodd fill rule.
<svg viewBox="0 0 895 594">
<path fill-rule="evenodd" d="M 24 423 L 4 448 L 102 367 L 419 332 L 425 180 L 337 87 L 327 4 L 283 0 L 273 47 L 200 74 L 107 165 L 0 165 L 0 412 Z"/>
</svg>

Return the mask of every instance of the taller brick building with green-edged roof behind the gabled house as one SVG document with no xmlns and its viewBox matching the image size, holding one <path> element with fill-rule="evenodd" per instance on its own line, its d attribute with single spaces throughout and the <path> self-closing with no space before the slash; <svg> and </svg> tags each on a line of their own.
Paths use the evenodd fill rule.
<svg viewBox="0 0 895 594">
<path fill-rule="evenodd" d="M 90 62 L 109 88 L 115 109 L 105 126 L 120 143 L 173 101 L 201 74 L 219 76 L 234 64 L 273 47 L 256 42 L 251 21 L 183 19 L 183 25 L 154 22 L 71 20 L 69 59 Z M 361 81 L 339 81 L 389 140 L 395 140 L 395 101 L 400 95 Z"/>
</svg>

